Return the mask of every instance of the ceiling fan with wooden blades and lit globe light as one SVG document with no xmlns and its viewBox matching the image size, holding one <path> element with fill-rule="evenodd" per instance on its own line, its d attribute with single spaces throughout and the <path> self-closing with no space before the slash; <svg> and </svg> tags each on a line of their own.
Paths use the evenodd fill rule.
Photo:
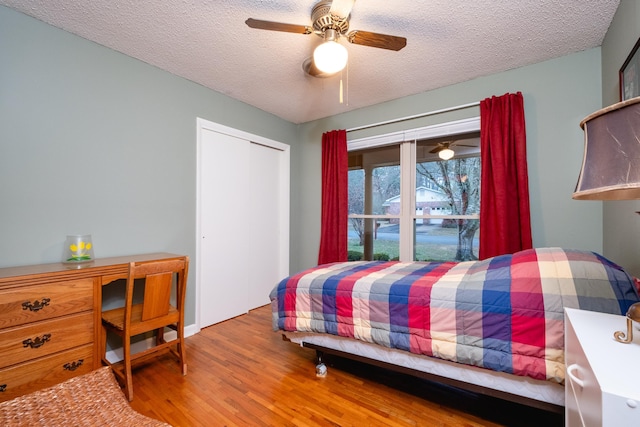
<svg viewBox="0 0 640 427">
<path fill-rule="evenodd" d="M 342 70 L 348 59 L 347 49 L 339 43 L 344 37 L 349 43 L 398 51 L 407 45 L 404 37 L 369 31 L 349 31 L 349 19 L 355 0 L 321 0 L 311 10 L 311 26 L 285 24 L 249 18 L 245 23 L 251 28 L 283 31 L 298 34 L 316 34 L 324 39 L 313 52 L 313 58 L 305 60 L 302 68 L 314 77 L 328 77 Z"/>
</svg>

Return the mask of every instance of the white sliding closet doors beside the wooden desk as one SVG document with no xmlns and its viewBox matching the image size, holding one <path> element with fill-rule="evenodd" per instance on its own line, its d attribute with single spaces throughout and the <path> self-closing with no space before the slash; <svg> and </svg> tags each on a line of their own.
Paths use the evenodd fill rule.
<svg viewBox="0 0 640 427">
<path fill-rule="evenodd" d="M 268 304 L 289 269 L 288 146 L 208 125 L 215 124 L 199 121 L 198 129 L 201 328 Z"/>
</svg>

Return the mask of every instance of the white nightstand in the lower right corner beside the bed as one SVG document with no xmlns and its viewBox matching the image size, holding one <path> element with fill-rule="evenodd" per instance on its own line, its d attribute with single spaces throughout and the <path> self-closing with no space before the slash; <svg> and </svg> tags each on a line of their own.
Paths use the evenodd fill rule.
<svg viewBox="0 0 640 427">
<path fill-rule="evenodd" d="M 616 331 L 626 317 L 565 309 L 567 427 L 640 426 L 640 330 L 629 344 Z"/>
</svg>

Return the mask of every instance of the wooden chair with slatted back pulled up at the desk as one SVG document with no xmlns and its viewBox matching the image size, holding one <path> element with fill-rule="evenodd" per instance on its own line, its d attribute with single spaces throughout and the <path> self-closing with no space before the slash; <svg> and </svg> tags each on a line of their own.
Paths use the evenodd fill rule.
<svg viewBox="0 0 640 427">
<path fill-rule="evenodd" d="M 189 257 L 170 258 L 150 262 L 129 264 L 124 307 L 102 312 L 102 344 L 106 349 L 107 332 L 122 338 L 124 360 L 111 363 L 102 352 L 102 362 L 111 366 L 116 377 L 124 384 L 124 391 L 133 400 L 131 366 L 159 353 L 173 353 L 180 361 L 182 375 L 187 374 L 187 359 L 184 344 L 184 300 L 189 271 Z M 174 280 L 175 279 L 175 280 Z M 144 298 L 134 302 L 134 287 L 144 284 Z M 175 289 L 175 305 L 172 290 Z M 165 341 L 165 328 L 177 332 L 177 337 Z M 152 347 L 131 354 L 131 337 L 146 332 L 155 332 Z"/>
</svg>

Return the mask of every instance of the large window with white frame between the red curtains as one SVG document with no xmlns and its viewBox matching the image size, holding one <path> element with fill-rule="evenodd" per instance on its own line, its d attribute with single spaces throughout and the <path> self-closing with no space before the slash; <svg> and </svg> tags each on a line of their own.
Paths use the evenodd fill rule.
<svg viewBox="0 0 640 427">
<path fill-rule="evenodd" d="M 479 130 L 349 146 L 350 260 L 477 258 Z"/>
</svg>

